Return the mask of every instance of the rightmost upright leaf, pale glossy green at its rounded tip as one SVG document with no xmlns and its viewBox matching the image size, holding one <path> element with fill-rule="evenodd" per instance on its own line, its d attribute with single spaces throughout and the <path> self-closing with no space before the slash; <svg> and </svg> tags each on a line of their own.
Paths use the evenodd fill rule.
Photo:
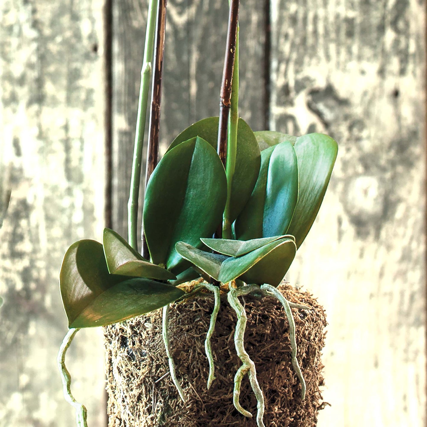
<svg viewBox="0 0 427 427">
<path fill-rule="evenodd" d="M 295 143 L 298 159 L 299 194 L 288 233 L 299 248 L 319 212 L 338 152 L 337 143 L 327 135 L 308 134 Z"/>
</svg>

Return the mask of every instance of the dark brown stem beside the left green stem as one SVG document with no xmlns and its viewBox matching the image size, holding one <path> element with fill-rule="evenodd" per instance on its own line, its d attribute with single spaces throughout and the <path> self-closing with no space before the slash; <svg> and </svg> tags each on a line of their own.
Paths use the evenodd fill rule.
<svg viewBox="0 0 427 427">
<path fill-rule="evenodd" d="M 148 180 L 158 161 L 164 36 L 166 31 L 166 5 L 167 0 L 160 0 L 157 9 L 156 38 L 154 50 L 154 77 L 151 94 L 147 166 L 145 170 L 145 187 L 147 187 Z M 149 258 L 149 251 L 145 239 L 144 230 L 142 230 L 142 256 L 146 259 Z"/>
</svg>

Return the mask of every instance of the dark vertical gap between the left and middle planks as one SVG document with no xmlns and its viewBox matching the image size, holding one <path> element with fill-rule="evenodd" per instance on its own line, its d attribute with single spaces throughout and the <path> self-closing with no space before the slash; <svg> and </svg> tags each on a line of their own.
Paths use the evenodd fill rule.
<svg viewBox="0 0 427 427">
<path fill-rule="evenodd" d="M 104 226 L 112 228 L 112 149 L 113 149 L 113 0 L 105 0 L 102 10 L 103 20 L 103 68 L 104 68 L 104 152 L 105 152 L 105 191 L 104 191 Z M 105 363 L 105 362 L 104 362 Z M 105 367 L 103 366 L 103 369 Z M 104 369 L 105 372 L 105 369 Z M 107 381 L 107 377 L 105 376 Z M 102 407 L 104 412 L 103 426 L 108 427 L 108 392 L 102 391 Z"/>
</svg>

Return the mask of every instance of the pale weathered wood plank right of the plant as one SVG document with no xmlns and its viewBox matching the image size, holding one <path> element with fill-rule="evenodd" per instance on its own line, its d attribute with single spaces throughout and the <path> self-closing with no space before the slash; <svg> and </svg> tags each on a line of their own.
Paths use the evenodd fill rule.
<svg viewBox="0 0 427 427">
<path fill-rule="evenodd" d="M 328 313 L 320 426 L 425 425 L 425 2 L 272 2 L 272 129 L 339 142 L 288 279 Z"/>
</svg>

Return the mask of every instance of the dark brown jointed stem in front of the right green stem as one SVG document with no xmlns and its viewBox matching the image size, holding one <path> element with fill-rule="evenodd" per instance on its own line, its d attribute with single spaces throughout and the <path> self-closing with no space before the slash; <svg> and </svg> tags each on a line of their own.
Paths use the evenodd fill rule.
<svg viewBox="0 0 427 427">
<path fill-rule="evenodd" d="M 227 163 L 227 124 L 231 107 L 231 81 L 233 79 L 234 56 L 236 53 L 237 21 L 239 19 L 239 0 L 231 0 L 228 15 L 227 48 L 222 71 L 221 92 L 219 94 L 218 155 L 222 164 Z M 222 226 L 215 237 L 221 238 Z"/>
</svg>

